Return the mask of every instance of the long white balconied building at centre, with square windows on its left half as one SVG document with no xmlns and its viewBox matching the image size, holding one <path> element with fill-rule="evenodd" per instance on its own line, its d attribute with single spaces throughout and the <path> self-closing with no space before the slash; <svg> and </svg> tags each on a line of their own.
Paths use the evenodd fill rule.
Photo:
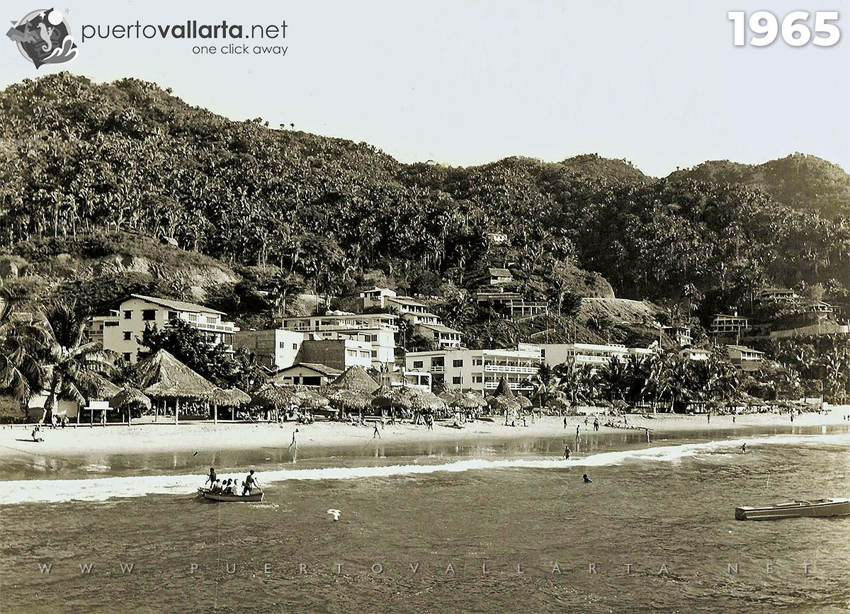
<svg viewBox="0 0 850 614">
<path fill-rule="evenodd" d="M 434 384 L 445 382 L 452 388 L 492 392 L 505 378 L 513 390 L 530 390 L 527 380 L 543 361 L 539 345 L 519 344 L 517 350 L 434 350 L 408 352 L 408 372 L 429 372 Z"/>
</svg>

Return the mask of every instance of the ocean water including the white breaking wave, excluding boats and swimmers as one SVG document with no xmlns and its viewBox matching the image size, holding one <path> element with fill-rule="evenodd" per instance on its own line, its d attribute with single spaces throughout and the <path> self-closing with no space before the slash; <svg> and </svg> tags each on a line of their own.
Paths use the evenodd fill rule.
<svg viewBox="0 0 850 614">
<path fill-rule="evenodd" d="M 850 608 L 850 517 L 734 520 L 850 496 L 847 429 L 299 453 L 4 461 L 0 611 Z M 199 500 L 210 464 L 265 501 Z"/>
</svg>

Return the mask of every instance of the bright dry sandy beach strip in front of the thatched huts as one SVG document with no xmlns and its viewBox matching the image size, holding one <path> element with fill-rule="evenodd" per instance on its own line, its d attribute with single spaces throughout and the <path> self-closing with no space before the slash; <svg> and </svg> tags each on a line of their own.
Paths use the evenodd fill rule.
<svg viewBox="0 0 850 614">
<path fill-rule="evenodd" d="M 633 428 L 650 429 L 650 436 L 675 431 L 717 431 L 745 427 L 811 427 L 846 424 L 845 416 L 850 415 L 850 406 L 828 406 L 826 412 L 803 413 L 791 418 L 788 413 L 757 413 L 736 416 L 712 415 L 709 422 L 706 415 L 685 416 L 659 413 L 654 416 L 632 414 L 626 416 L 627 424 Z M 584 424 L 584 417 L 568 416 L 567 428 L 564 418 L 544 416 L 536 418 L 534 424 L 526 418 L 517 426 L 504 426 L 500 418 L 494 422 L 476 421 L 467 423 L 462 429 L 452 428 L 452 421 L 440 421 L 433 430 L 425 426 L 412 424 L 386 424 L 380 429 L 381 443 L 410 443 L 416 441 L 468 441 L 475 438 L 524 438 L 524 437 L 575 437 L 575 428 L 581 435 L 593 432 L 593 420 Z M 600 433 L 626 432 L 628 429 L 604 426 L 608 417 L 600 417 Z M 617 418 L 615 418 L 617 419 Z M 20 457 L 24 454 L 42 456 L 64 456 L 74 454 L 99 453 L 139 453 L 139 452 L 184 452 L 214 451 L 227 449 L 248 449 L 252 447 L 286 447 L 292 441 L 292 433 L 298 429 L 297 446 L 299 449 L 311 446 L 364 446 L 374 437 L 373 423 L 367 426 L 352 426 L 348 423 L 316 422 L 314 424 L 296 424 L 294 422 L 278 424 L 258 423 L 241 424 L 219 422 L 186 422 L 175 425 L 170 422 L 139 423 L 130 427 L 122 424 L 110 424 L 106 427 L 83 424 L 65 429 L 43 429 L 44 441 L 31 441 L 31 426 L 6 425 L 0 429 L 0 458 Z M 377 441 L 377 438 L 375 438 Z"/>
</svg>

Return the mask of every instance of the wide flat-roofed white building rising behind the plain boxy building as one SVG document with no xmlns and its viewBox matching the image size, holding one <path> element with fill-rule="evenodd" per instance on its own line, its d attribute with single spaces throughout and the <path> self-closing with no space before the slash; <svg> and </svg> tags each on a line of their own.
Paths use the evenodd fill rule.
<svg viewBox="0 0 850 614">
<path fill-rule="evenodd" d="M 398 317 L 392 314 L 352 314 L 328 311 L 324 316 L 285 317 L 281 328 L 309 333 L 311 338 L 348 339 L 371 344 L 371 366 L 395 362 L 395 333 Z"/>
</svg>

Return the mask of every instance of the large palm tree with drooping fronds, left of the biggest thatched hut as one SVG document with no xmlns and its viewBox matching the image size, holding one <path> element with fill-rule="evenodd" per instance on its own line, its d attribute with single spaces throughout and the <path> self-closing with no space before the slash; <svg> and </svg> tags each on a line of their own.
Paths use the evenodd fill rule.
<svg viewBox="0 0 850 614">
<path fill-rule="evenodd" d="M 59 396 L 78 403 L 86 401 L 96 376 L 114 371 L 111 353 L 100 344 L 85 337 L 86 319 L 73 307 L 60 305 L 49 310 L 42 321 L 43 338 L 40 340 L 39 359 L 47 371 L 42 422 L 52 422 Z"/>
</svg>

